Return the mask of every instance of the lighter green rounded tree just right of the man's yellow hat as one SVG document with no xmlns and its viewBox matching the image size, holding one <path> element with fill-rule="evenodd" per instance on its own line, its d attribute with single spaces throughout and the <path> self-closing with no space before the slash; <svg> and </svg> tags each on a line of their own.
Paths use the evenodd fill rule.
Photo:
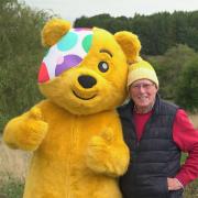
<svg viewBox="0 0 198 198">
<path fill-rule="evenodd" d="M 179 77 L 186 63 L 195 58 L 197 54 L 187 45 L 176 45 L 169 48 L 163 56 L 148 57 L 155 67 L 160 79 L 160 94 L 163 98 L 175 100 Z"/>
</svg>

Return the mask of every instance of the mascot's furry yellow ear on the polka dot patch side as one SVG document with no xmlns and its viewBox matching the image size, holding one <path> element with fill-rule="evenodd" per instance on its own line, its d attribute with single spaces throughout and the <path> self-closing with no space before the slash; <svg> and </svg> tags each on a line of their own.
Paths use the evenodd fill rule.
<svg viewBox="0 0 198 198">
<path fill-rule="evenodd" d="M 44 25 L 42 30 L 42 45 L 48 47 L 54 45 L 64 34 L 69 31 L 69 29 L 70 23 L 68 21 L 62 19 L 52 19 Z"/>
</svg>

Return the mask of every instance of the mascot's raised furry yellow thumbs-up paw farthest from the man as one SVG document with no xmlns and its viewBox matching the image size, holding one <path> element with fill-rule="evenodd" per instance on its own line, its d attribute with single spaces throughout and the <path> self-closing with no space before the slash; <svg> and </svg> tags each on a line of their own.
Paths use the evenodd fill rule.
<svg viewBox="0 0 198 198">
<path fill-rule="evenodd" d="M 35 151 L 46 135 L 48 124 L 38 107 L 9 121 L 3 131 L 3 141 L 12 148 Z"/>
</svg>

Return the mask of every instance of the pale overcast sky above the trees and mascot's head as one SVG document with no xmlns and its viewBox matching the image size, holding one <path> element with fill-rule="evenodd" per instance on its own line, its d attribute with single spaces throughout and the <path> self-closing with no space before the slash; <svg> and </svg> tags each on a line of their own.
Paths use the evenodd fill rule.
<svg viewBox="0 0 198 198">
<path fill-rule="evenodd" d="M 20 0 L 32 8 L 48 10 L 75 21 L 81 15 L 109 13 L 112 16 L 133 16 L 134 13 L 152 14 L 162 11 L 195 11 L 198 0 Z"/>
</svg>

